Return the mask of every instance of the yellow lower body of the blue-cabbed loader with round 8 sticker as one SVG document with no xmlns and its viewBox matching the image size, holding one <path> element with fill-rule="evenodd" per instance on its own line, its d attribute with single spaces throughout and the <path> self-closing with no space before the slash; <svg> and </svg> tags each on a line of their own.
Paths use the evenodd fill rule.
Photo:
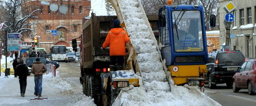
<svg viewBox="0 0 256 106">
<path fill-rule="evenodd" d="M 184 84 L 187 78 L 198 78 L 207 72 L 206 65 L 174 65 L 168 67 L 175 84 Z"/>
</svg>

